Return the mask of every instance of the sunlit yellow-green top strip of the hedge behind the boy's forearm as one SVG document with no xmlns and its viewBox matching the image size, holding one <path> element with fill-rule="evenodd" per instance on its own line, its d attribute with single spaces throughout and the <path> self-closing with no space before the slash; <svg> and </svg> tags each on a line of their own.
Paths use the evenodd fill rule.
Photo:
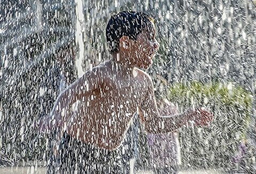
<svg viewBox="0 0 256 174">
<path fill-rule="evenodd" d="M 197 81 L 187 85 L 176 83 L 170 87 L 168 97 L 172 100 L 180 100 L 180 97 L 187 100 L 188 97 L 193 97 L 200 101 L 201 104 L 204 104 L 204 99 L 207 99 L 209 102 L 218 101 L 223 105 L 237 105 L 241 108 L 249 108 L 252 104 L 251 93 L 240 86 L 234 86 L 232 83 L 216 83 L 213 85 L 204 85 Z"/>
</svg>

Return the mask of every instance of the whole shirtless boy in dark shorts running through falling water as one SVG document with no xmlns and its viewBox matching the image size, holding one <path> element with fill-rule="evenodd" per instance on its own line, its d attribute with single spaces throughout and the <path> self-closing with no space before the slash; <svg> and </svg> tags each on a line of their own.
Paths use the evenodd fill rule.
<svg viewBox="0 0 256 174">
<path fill-rule="evenodd" d="M 138 69 L 148 69 L 159 48 L 149 15 L 130 11 L 113 15 L 106 38 L 112 58 L 69 85 L 50 115 L 38 121 L 41 131 L 64 130 L 59 145 L 60 173 L 122 173 L 112 156 L 136 113 L 150 133 L 172 132 L 189 121 L 195 125 L 212 121 L 213 115 L 202 109 L 160 117 L 151 77 Z M 79 106 L 73 115 L 67 115 L 76 101 Z"/>
</svg>

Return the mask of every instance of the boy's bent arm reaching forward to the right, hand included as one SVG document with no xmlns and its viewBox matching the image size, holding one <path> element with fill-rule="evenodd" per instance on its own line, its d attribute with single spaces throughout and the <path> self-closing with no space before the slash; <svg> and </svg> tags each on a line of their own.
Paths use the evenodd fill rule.
<svg viewBox="0 0 256 174">
<path fill-rule="evenodd" d="M 187 125 L 188 122 L 194 122 L 195 125 L 208 125 L 213 115 L 206 110 L 188 110 L 181 114 L 175 114 L 172 116 L 159 115 L 156 99 L 154 97 L 153 83 L 151 78 L 149 80 L 148 94 L 141 105 L 140 117 L 144 123 L 145 130 L 149 133 L 167 133 L 175 131 L 181 128 L 183 125 Z"/>
</svg>

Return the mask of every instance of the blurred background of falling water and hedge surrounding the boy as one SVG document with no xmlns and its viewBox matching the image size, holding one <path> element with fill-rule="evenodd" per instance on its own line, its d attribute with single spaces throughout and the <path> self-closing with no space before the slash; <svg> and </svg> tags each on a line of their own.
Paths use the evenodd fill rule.
<svg viewBox="0 0 256 174">
<path fill-rule="evenodd" d="M 177 131 L 180 170 L 255 173 L 255 1 L 0 2 L 0 168 L 46 165 L 53 137 L 32 123 L 50 113 L 66 85 L 110 59 L 106 23 L 132 10 L 156 19 L 160 50 L 147 72 L 157 100 L 215 115 L 207 128 Z M 136 163 L 148 170 L 148 137 L 136 129 Z"/>
</svg>

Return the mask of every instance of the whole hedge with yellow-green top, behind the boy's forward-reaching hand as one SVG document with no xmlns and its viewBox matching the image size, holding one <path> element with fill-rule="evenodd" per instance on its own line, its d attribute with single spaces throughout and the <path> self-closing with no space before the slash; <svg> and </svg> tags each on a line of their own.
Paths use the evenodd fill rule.
<svg viewBox="0 0 256 174">
<path fill-rule="evenodd" d="M 231 168 L 238 144 L 246 138 L 252 115 L 251 93 L 232 83 L 193 81 L 174 84 L 168 99 L 180 106 L 180 112 L 205 107 L 214 114 L 208 127 L 180 130 L 183 168 Z"/>
</svg>

